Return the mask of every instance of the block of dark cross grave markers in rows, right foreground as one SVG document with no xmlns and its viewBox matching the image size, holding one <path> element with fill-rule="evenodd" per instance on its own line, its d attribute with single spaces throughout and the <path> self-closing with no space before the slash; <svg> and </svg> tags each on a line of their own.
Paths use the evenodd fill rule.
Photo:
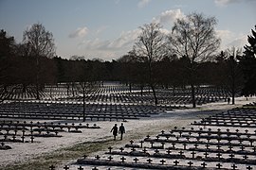
<svg viewBox="0 0 256 170">
<path fill-rule="evenodd" d="M 256 110 L 252 110 L 256 114 Z M 194 127 L 194 125 L 192 125 Z M 206 127 L 205 125 L 200 125 L 203 127 Z M 150 138 L 150 136 L 147 136 L 143 141 L 140 141 L 140 144 L 134 144 L 133 141 L 131 141 L 130 144 L 126 144 L 125 147 L 129 148 L 131 147 L 131 151 L 124 151 L 125 149 L 123 147 L 119 148 L 119 151 L 113 151 L 112 147 L 109 147 L 109 151 L 105 154 L 110 155 L 107 157 L 107 160 L 101 160 L 101 157 L 98 155 L 95 159 L 89 159 L 84 156 L 83 159 L 79 159 L 77 161 L 78 164 L 90 164 L 90 165 L 107 165 L 107 166 L 124 166 L 124 167 L 136 167 L 136 168 L 154 168 L 154 169 L 168 169 L 168 168 L 179 168 L 179 169 L 186 169 L 186 166 L 182 164 L 179 164 L 179 161 L 184 162 L 185 160 L 189 161 L 189 167 L 191 168 L 215 168 L 215 169 L 238 169 L 238 165 L 243 166 L 247 169 L 252 169 L 256 165 L 255 156 L 256 156 L 256 145 L 254 142 L 256 141 L 256 131 L 253 131 L 253 129 L 245 129 L 245 130 L 230 130 L 227 128 L 226 130 L 223 130 L 225 127 L 219 127 L 216 130 L 213 130 L 211 128 L 208 128 L 208 130 L 203 130 L 204 128 L 200 127 L 199 129 L 194 129 L 192 127 L 191 131 L 189 129 L 177 129 L 174 128 L 170 133 L 165 133 L 162 131 L 159 135 L 155 137 L 155 139 Z M 210 126 L 207 126 L 210 127 Z M 250 132 L 249 132 L 250 131 Z M 185 135 L 186 133 L 197 133 L 198 136 L 191 136 L 191 135 Z M 202 132 L 206 134 L 214 134 L 215 137 L 210 136 L 209 138 L 203 138 Z M 185 133 L 185 134 L 183 134 Z M 174 135 L 175 134 L 175 135 Z M 230 137 L 231 135 L 236 135 L 237 139 L 234 137 Z M 226 137 L 224 137 L 226 136 Z M 245 136 L 245 138 L 241 138 L 241 136 Z M 171 140 L 170 138 L 174 138 L 174 140 Z M 212 139 L 210 139 L 212 137 Z M 165 139 L 162 139 L 165 138 Z M 181 140 L 182 138 L 187 138 L 186 140 Z M 194 141 L 191 139 L 195 138 Z M 202 141 L 201 141 L 202 140 Z M 210 143 L 211 140 L 215 140 L 215 143 Z M 228 143 L 222 143 L 221 141 L 229 141 Z M 237 143 L 235 143 L 235 140 L 237 140 Z M 208 141 L 208 142 L 203 142 Z M 248 142 L 248 143 L 246 143 Z M 143 146 L 143 143 L 148 143 L 148 146 Z M 160 145 L 154 145 L 155 143 L 160 143 Z M 244 144 L 245 143 L 245 144 Z M 165 144 L 171 144 L 170 147 L 164 148 Z M 175 144 L 182 145 L 183 147 L 175 147 Z M 188 145 L 192 145 L 193 147 L 188 148 Z M 198 146 L 204 145 L 205 148 L 200 148 Z M 216 149 L 210 148 L 213 145 L 215 145 Z M 227 147 L 227 150 L 222 149 L 222 147 Z M 239 150 L 234 150 L 234 148 L 238 148 Z M 138 150 L 137 150 L 138 149 Z M 142 149 L 139 151 L 139 149 Z M 155 149 L 154 154 L 150 154 L 147 152 L 147 149 Z M 166 150 L 167 154 L 159 153 L 159 150 L 161 152 L 163 149 Z M 246 150 L 248 149 L 248 150 Z M 249 151 L 251 149 L 251 151 Z M 174 150 L 177 154 L 171 154 L 171 152 Z M 186 153 L 185 153 L 186 152 Z M 196 154 L 199 154 L 199 156 L 196 156 Z M 114 161 L 114 158 L 112 156 L 115 156 L 118 158 L 120 156 L 121 161 Z M 189 156 L 191 155 L 191 156 Z M 200 156 L 200 155 L 203 155 Z M 214 155 L 214 157 L 212 157 Z M 223 155 L 226 156 L 226 158 L 222 157 Z M 125 161 L 127 157 L 131 159 L 131 157 L 135 157 L 133 161 Z M 138 162 L 140 158 L 147 158 L 146 162 Z M 153 159 L 161 159 L 155 162 Z M 165 160 L 164 160 L 165 159 Z M 169 164 L 167 164 L 167 160 L 170 161 L 173 160 L 172 163 L 170 161 Z M 192 160 L 198 162 L 201 161 L 201 166 L 192 166 Z M 212 165 L 213 162 L 217 162 L 216 165 Z M 148 162 L 148 163 L 147 163 Z M 155 163 L 154 163 L 155 162 Z M 207 163 L 208 162 L 208 163 Z M 210 162 L 210 166 L 208 166 Z M 226 164 L 225 166 L 223 163 L 231 163 L 232 165 Z M 196 163 L 195 163 L 196 164 Z"/>
</svg>

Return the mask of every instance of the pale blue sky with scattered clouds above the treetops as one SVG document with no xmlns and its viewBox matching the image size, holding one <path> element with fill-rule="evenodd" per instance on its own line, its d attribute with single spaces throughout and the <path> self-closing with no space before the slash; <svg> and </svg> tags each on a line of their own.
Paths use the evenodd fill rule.
<svg viewBox="0 0 256 170">
<path fill-rule="evenodd" d="M 0 29 L 22 42 L 24 30 L 40 23 L 58 56 L 111 60 L 132 49 L 138 26 L 159 22 L 168 31 L 194 11 L 216 17 L 223 49 L 243 47 L 256 25 L 256 0 L 0 0 Z"/>
</svg>

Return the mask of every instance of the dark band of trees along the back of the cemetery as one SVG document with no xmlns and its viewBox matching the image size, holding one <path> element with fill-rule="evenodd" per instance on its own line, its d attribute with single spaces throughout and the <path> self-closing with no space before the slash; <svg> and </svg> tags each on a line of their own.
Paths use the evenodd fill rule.
<svg viewBox="0 0 256 170">
<path fill-rule="evenodd" d="M 34 89 L 40 99 L 38 92 L 43 90 L 46 84 L 65 83 L 71 88 L 78 82 L 102 81 L 120 81 L 130 87 L 139 86 L 141 95 L 146 86 L 152 87 L 153 90 L 155 87 L 175 90 L 191 85 L 210 85 L 220 90 L 228 90 L 232 94 L 233 103 L 235 93 L 242 92 L 246 96 L 256 93 L 255 30 L 251 30 L 252 35 L 248 36 L 249 44 L 245 46 L 244 51 L 235 47 L 229 48 L 209 60 L 191 60 L 186 55 L 178 57 L 174 53 L 164 53 L 157 59 L 150 59 L 154 56 L 148 55 L 147 59 L 131 51 L 119 59 L 103 61 L 78 56 L 70 59 L 54 56 L 52 35 L 44 26 L 34 26 L 34 29 L 25 31 L 23 43 L 16 43 L 5 30 L 0 32 L 2 96 L 8 97 L 7 93 L 12 93 L 15 88 L 22 88 L 23 92 Z M 43 37 L 43 42 L 35 44 L 43 38 L 31 38 L 29 34 L 38 30 L 41 35 L 46 36 Z"/>
</svg>

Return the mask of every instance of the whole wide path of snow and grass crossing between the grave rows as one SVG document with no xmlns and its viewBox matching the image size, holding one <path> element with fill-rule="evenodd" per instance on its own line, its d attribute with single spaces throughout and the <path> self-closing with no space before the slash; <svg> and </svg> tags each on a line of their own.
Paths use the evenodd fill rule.
<svg viewBox="0 0 256 170">
<path fill-rule="evenodd" d="M 252 98 L 251 101 L 255 101 Z M 140 141 L 147 135 L 159 134 L 161 130 L 171 130 L 174 127 L 188 127 L 194 120 L 215 114 L 218 111 L 230 110 L 249 103 L 241 97 L 236 100 L 236 105 L 227 103 L 212 103 L 197 109 L 174 110 L 167 113 L 154 115 L 150 118 L 129 120 L 124 122 L 126 133 L 124 139 L 113 141 L 110 133 L 111 127 L 116 121 L 95 122 L 101 128 L 95 131 L 83 131 L 82 134 L 66 134 L 60 139 L 41 139 L 38 144 L 15 144 L 18 149 L 1 151 L 0 170 L 46 170 L 50 165 L 56 169 L 63 169 L 68 165 L 82 158 L 83 155 L 96 156 L 108 151 L 108 147 L 119 148 L 129 144 L 130 140 Z M 89 122 L 91 124 L 91 122 Z M 26 151 L 24 151 L 26 150 Z M 25 153 L 26 152 L 26 153 Z M 27 156 L 28 155 L 28 156 Z M 23 158 L 26 157 L 26 158 Z"/>
</svg>

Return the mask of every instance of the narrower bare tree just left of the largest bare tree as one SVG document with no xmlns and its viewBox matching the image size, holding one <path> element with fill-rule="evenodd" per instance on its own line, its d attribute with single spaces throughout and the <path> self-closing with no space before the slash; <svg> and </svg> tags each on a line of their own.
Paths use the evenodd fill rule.
<svg viewBox="0 0 256 170">
<path fill-rule="evenodd" d="M 164 54 L 165 36 L 161 32 L 161 26 L 156 23 L 140 26 L 140 34 L 137 37 L 137 42 L 134 45 L 134 50 L 137 57 L 140 57 L 148 65 L 148 83 L 152 88 L 155 105 L 157 105 L 157 97 L 155 94 L 155 77 L 154 77 L 154 62 L 161 59 Z"/>
</svg>

